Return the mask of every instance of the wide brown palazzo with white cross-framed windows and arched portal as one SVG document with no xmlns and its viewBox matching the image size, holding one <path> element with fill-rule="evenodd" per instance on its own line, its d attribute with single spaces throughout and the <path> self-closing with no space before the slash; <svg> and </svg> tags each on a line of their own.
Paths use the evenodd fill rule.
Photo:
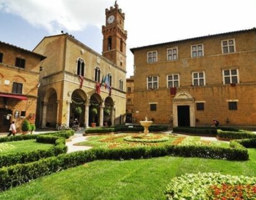
<svg viewBox="0 0 256 200">
<path fill-rule="evenodd" d="M 173 126 L 256 126 L 256 29 L 131 49 L 133 113 Z"/>
</svg>

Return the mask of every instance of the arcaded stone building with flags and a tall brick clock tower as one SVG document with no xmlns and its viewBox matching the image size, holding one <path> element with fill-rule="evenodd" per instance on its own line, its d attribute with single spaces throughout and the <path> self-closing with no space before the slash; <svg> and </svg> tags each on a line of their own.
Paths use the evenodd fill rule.
<svg viewBox="0 0 256 200">
<path fill-rule="evenodd" d="M 106 9 L 103 56 L 69 34 L 44 37 L 34 48 L 48 58 L 40 74 L 38 125 L 124 123 L 126 88 L 125 14 Z M 101 84 L 102 83 L 102 84 Z"/>
</svg>

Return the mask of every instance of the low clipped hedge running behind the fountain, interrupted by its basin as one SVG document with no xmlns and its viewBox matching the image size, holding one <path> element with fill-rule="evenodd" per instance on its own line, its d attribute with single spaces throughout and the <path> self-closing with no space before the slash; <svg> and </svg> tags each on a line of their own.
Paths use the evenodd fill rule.
<svg viewBox="0 0 256 200">
<path fill-rule="evenodd" d="M 168 127 L 167 126 L 150 126 L 148 130 L 150 132 L 155 132 L 155 131 L 167 131 Z M 88 133 L 112 133 L 112 132 L 119 132 L 119 131 L 124 131 L 124 132 L 142 132 L 144 131 L 144 128 L 142 126 L 136 125 L 133 126 L 132 128 L 129 126 L 114 126 L 110 128 L 90 128 L 86 129 L 84 131 L 85 134 Z"/>
</svg>

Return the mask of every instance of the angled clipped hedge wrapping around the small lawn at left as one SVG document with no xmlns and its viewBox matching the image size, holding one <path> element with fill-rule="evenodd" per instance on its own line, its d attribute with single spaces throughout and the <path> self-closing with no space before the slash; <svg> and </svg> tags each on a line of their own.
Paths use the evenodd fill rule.
<svg viewBox="0 0 256 200">
<path fill-rule="evenodd" d="M 53 134 L 53 135 L 51 135 Z M 66 153 L 67 147 L 65 146 L 65 138 L 63 136 L 71 136 L 74 134 L 74 131 L 67 131 L 67 133 L 51 133 L 48 135 L 34 135 L 36 136 L 36 141 L 38 143 L 50 143 L 54 144 L 53 147 L 46 149 L 46 150 L 34 150 L 29 152 L 17 152 L 13 154 L 6 154 L 0 156 L 0 168 L 3 166 L 11 166 L 13 164 L 18 163 L 29 163 L 33 161 L 38 161 L 41 158 L 48 158 L 51 156 L 58 156 L 59 154 Z M 33 136 L 33 135 L 24 135 L 24 136 Z M 30 137 L 24 136 L 17 136 L 15 141 L 22 140 L 22 139 L 34 139 Z M 13 137 L 6 137 L 6 138 L 14 138 Z"/>
</svg>

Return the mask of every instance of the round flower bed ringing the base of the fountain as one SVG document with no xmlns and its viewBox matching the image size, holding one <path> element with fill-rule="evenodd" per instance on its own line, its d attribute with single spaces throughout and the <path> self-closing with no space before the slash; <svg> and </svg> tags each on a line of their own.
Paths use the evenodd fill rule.
<svg viewBox="0 0 256 200">
<path fill-rule="evenodd" d="M 125 141 L 135 142 L 135 143 L 162 143 L 168 141 L 168 136 L 163 135 L 133 135 L 123 138 Z"/>
</svg>

